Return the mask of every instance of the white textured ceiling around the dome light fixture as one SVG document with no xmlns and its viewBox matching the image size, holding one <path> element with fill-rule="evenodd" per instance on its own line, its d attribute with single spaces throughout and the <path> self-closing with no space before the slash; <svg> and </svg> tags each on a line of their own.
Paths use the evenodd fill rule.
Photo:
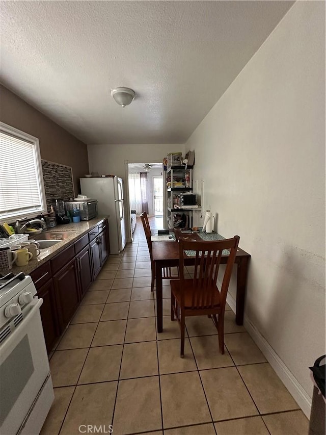
<svg viewBox="0 0 326 435">
<path fill-rule="evenodd" d="M 293 3 L 1 2 L 0 80 L 86 143 L 184 143 Z"/>
</svg>

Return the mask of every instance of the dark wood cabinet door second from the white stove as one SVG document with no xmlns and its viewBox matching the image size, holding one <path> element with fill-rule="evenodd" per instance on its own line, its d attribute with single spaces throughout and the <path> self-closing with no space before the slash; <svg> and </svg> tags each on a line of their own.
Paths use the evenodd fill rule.
<svg viewBox="0 0 326 435">
<path fill-rule="evenodd" d="M 53 276 L 60 332 L 68 325 L 79 305 L 78 275 L 75 260 Z"/>
</svg>

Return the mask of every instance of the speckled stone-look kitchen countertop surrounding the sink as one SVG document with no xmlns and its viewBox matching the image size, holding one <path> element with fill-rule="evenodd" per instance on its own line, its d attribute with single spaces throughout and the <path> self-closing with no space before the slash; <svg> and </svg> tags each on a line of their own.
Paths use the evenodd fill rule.
<svg viewBox="0 0 326 435">
<path fill-rule="evenodd" d="M 65 225 L 57 225 L 54 228 L 48 229 L 46 232 L 42 232 L 37 237 L 33 237 L 33 235 L 29 236 L 29 239 L 36 239 L 38 240 L 45 240 L 45 235 L 48 234 L 56 234 L 56 233 L 62 233 L 65 231 L 71 231 L 74 233 L 67 233 L 65 234 L 65 238 L 61 240 L 59 243 L 56 243 L 55 245 L 41 249 L 40 255 L 36 257 L 36 259 L 30 260 L 29 264 L 27 266 L 18 267 L 14 265 L 12 269 L 9 270 L 0 270 L 0 273 L 5 275 L 6 273 L 19 273 L 24 272 L 26 275 L 31 273 L 33 270 L 37 269 L 39 266 L 41 266 L 43 263 L 47 262 L 51 258 L 55 257 L 60 251 L 65 249 L 67 246 L 69 246 L 71 243 L 73 243 L 75 240 L 82 237 L 84 234 L 88 233 L 90 229 L 97 226 L 99 223 L 101 223 L 104 219 L 108 219 L 108 216 L 98 216 L 94 219 L 90 220 L 82 220 L 80 222 L 71 222 L 67 223 Z M 48 237 L 48 236 L 47 236 Z"/>
</svg>

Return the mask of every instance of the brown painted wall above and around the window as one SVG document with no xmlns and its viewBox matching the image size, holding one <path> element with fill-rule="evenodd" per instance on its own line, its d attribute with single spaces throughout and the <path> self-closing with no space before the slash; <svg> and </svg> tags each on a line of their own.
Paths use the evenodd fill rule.
<svg viewBox="0 0 326 435">
<path fill-rule="evenodd" d="M 39 139 L 41 158 L 72 167 L 75 193 L 88 173 L 87 145 L 0 85 L 0 120 Z"/>
</svg>

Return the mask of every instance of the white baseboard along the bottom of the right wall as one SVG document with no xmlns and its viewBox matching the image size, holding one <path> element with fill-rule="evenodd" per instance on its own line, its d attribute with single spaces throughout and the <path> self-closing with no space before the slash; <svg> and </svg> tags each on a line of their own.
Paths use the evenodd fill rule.
<svg viewBox="0 0 326 435">
<path fill-rule="evenodd" d="M 227 303 L 230 305 L 232 311 L 235 313 L 236 301 L 230 294 L 228 294 L 227 296 Z M 300 385 L 298 380 L 293 376 L 290 370 L 280 359 L 273 347 L 271 347 L 267 340 L 264 339 L 264 337 L 260 334 L 259 330 L 246 315 L 244 315 L 243 326 L 247 329 L 248 334 L 262 351 L 270 366 L 275 370 L 279 378 L 284 383 L 285 387 L 293 396 L 294 400 L 301 407 L 303 413 L 309 419 L 311 411 L 311 397 L 309 397 L 309 395 Z"/>
</svg>

